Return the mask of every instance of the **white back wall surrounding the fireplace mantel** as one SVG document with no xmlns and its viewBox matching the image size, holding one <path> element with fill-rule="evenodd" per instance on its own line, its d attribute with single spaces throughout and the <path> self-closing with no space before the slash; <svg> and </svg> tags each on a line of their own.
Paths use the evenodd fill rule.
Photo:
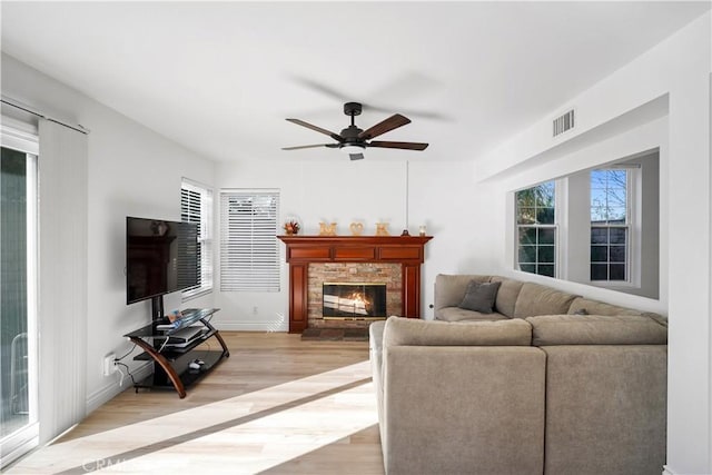
<svg viewBox="0 0 712 475">
<path fill-rule="evenodd" d="M 434 236 L 426 245 L 422 276 L 422 315 L 426 317 L 432 316 L 428 305 L 433 301 L 435 275 L 474 267 L 476 249 L 471 243 L 477 226 L 468 216 L 473 197 L 472 165 L 418 162 L 417 158 L 409 162 L 368 158 L 350 161 L 334 154 L 334 159 L 328 161 L 290 157 L 268 162 L 219 164 L 216 177 L 218 192 L 220 188 L 278 189 L 280 222 L 298 217 L 304 226 L 301 234 L 306 235 L 318 234 L 320 221 L 337 222 L 337 234 L 347 236 L 354 221 L 364 224 L 365 235 L 374 235 L 378 221 L 388 222 L 392 235 L 405 229 L 406 219 L 412 235 L 417 234 L 419 225 L 426 225 L 427 234 Z M 214 321 L 220 328 L 288 329 L 288 266 L 284 246 L 280 245 L 280 249 L 281 290 L 269 294 L 218 290 L 216 305 L 221 311 Z M 217 267 L 219 283 L 219 263 Z"/>
</svg>

